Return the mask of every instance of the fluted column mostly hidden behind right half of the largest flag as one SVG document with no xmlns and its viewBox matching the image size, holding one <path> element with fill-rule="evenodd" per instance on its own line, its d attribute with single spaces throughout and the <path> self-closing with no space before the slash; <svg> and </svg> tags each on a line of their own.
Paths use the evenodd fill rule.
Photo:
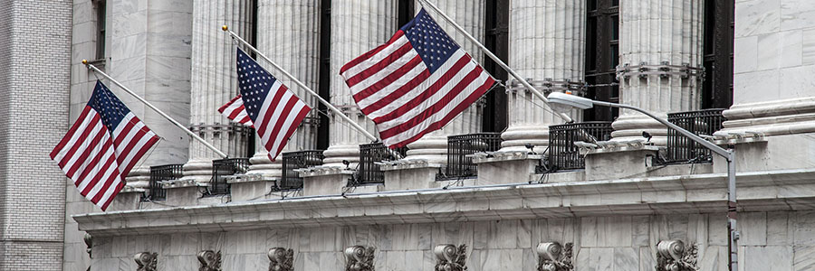
<svg viewBox="0 0 815 271">
<path fill-rule="evenodd" d="M 471 0 L 471 1 L 458 1 L 458 0 L 438 0 L 435 1 L 436 6 L 444 11 L 447 15 L 455 20 L 464 29 L 472 34 L 478 41 L 484 41 L 484 3 L 485 0 Z M 416 12 L 421 8 L 421 2 L 416 2 Z M 452 24 L 436 14 L 431 9 L 427 12 L 436 19 L 436 23 L 447 34 L 450 35 L 456 43 L 461 45 L 467 53 L 473 56 L 473 59 L 479 64 L 483 63 L 484 53 L 479 50 L 475 43 L 467 40 L 463 33 L 455 30 Z M 462 135 L 477 133 L 481 131 L 482 113 L 484 103 L 481 99 L 475 102 L 472 106 L 467 107 L 461 114 L 455 117 L 443 128 L 422 136 L 416 142 L 409 144 L 408 159 L 424 159 L 431 164 L 446 164 L 447 163 L 447 135 Z"/>
</svg>

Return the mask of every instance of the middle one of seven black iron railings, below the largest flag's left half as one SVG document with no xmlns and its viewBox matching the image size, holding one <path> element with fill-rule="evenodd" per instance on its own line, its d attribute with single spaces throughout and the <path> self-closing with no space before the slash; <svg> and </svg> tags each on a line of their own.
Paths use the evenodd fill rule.
<svg viewBox="0 0 815 271">
<path fill-rule="evenodd" d="M 408 148 L 398 148 L 393 150 L 402 157 L 405 157 Z M 379 168 L 379 162 L 396 160 L 398 157 L 388 151 L 388 147 L 381 143 L 372 143 L 360 145 L 360 170 L 357 171 L 357 178 L 351 185 L 360 185 L 368 183 L 384 183 L 385 173 Z"/>
</svg>

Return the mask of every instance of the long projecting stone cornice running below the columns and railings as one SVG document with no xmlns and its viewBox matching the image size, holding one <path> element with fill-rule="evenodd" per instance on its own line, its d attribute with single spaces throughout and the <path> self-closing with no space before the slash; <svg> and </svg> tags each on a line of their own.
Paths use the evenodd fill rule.
<svg viewBox="0 0 815 271">
<path fill-rule="evenodd" d="M 815 169 L 739 173 L 741 210 L 810 210 Z M 724 212 L 724 173 L 244 201 L 74 215 L 94 236 L 361 224 Z"/>
</svg>

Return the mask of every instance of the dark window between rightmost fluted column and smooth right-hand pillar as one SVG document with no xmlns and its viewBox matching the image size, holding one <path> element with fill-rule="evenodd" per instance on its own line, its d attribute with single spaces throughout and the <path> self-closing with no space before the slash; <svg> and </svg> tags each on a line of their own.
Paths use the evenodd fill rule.
<svg viewBox="0 0 815 271">
<path fill-rule="evenodd" d="M 705 1 L 702 108 L 733 105 L 733 1 Z"/>
</svg>

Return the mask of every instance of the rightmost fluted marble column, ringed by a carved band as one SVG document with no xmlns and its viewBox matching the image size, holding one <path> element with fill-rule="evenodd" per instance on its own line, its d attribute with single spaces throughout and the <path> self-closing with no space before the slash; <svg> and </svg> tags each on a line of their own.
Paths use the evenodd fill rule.
<svg viewBox="0 0 815 271">
<path fill-rule="evenodd" d="M 657 116 L 668 112 L 696 110 L 701 104 L 699 76 L 662 74 L 655 65 L 702 67 L 702 0 L 620 1 L 620 61 L 618 70 L 620 103 L 646 109 Z M 647 65 L 647 75 L 638 68 Z M 670 68 L 668 70 L 683 70 Z M 701 73 L 700 73 L 701 74 Z M 657 145 L 666 144 L 667 129 L 657 121 L 633 112 L 620 110 L 612 125 L 614 140 L 644 139 L 647 131 Z"/>
</svg>

